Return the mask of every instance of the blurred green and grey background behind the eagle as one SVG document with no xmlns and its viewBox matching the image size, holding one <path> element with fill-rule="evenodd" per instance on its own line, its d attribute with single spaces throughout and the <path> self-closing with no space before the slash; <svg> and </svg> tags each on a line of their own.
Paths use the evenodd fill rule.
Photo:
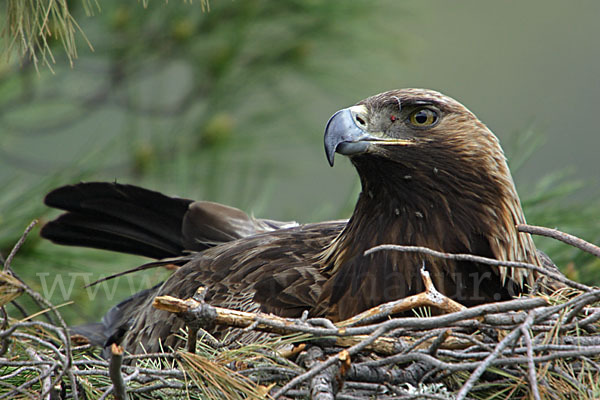
<svg viewBox="0 0 600 400">
<path fill-rule="evenodd" d="M 44 194 L 79 180 L 273 219 L 347 217 L 358 182 L 346 160 L 328 167 L 324 125 L 399 87 L 448 94 L 500 137 L 530 223 L 600 242 L 599 2 L 213 0 L 210 11 L 148 3 L 105 0 L 88 15 L 68 2 L 94 48 L 78 33 L 72 67 L 56 35 L 53 71 L 2 60 L 4 257 L 33 218 L 56 215 Z M 598 260 L 536 241 L 570 277 L 600 281 Z M 55 304 L 74 300 L 63 313 L 76 323 L 164 278 L 149 271 L 82 288 L 143 261 L 54 246 L 36 230 L 13 268 Z"/>
</svg>

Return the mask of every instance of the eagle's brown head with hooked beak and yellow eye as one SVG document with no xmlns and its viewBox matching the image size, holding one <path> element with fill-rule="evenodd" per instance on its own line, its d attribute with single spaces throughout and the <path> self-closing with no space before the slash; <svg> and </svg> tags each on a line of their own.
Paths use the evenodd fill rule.
<svg viewBox="0 0 600 400">
<path fill-rule="evenodd" d="M 337 152 L 350 157 L 359 174 L 377 164 L 414 172 L 411 178 L 445 174 L 462 189 L 486 178 L 513 187 L 496 136 L 462 104 L 432 90 L 392 90 L 340 110 L 329 119 L 324 141 L 330 165 Z"/>
</svg>

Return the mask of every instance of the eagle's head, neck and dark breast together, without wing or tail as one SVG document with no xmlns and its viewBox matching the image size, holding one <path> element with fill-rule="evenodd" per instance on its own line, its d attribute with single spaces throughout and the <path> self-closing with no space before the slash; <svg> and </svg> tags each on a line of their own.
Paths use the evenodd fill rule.
<svg viewBox="0 0 600 400">
<path fill-rule="evenodd" d="M 490 298 L 533 283 L 534 274 L 522 269 L 363 255 L 391 243 L 540 264 L 531 237 L 516 229 L 525 218 L 499 141 L 462 104 L 432 90 L 384 92 L 336 112 L 324 142 L 330 165 L 335 153 L 349 157 L 362 185 L 348 225 L 323 253 L 330 276 L 324 303 L 343 304 L 349 296 L 363 298 L 368 307 L 413 293 L 423 264 L 436 285 L 451 288 L 449 294 L 458 293 L 465 304 L 478 290 L 470 282 L 484 282 Z M 476 279 L 464 278 L 471 275 Z M 399 289 L 379 295 L 390 285 Z"/>
</svg>

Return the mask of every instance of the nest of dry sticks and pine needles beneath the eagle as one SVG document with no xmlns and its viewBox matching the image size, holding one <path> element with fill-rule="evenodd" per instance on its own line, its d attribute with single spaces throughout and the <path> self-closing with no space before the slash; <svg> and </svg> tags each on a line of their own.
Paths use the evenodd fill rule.
<svg viewBox="0 0 600 400">
<path fill-rule="evenodd" d="M 600 255 L 581 239 L 544 232 Z M 471 308 L 439 293 L 422 270 L 425 292 L 335 324 L 213 307 L 204 303 L 202 291 L 190 299 L 157 297 L 155 307 L 186 321 L 181 335 L 189 339 L 187 348 L 127 355 L 113 345 L 106 361 L 99 349 L 70 337 L 58 310 L 10 271 L 19 246 L 0 275 L 0 304 L 27 294 L 52 318 L 15 319 L 2 307 L 0 399 L 600 396 L 600 289 L 552 270 L 542 272 L 563 289 Z M 383 250 L 476 257 L 404 246 L 371 251 Z M 431 308 L 444 313 L 432 316 Z M 393 317 L 407 310 L 415 317 Z M 217 339 L 202 329 L 207 323 L 231 329 Z M 263 334 L 251 344 L 237 340 L 249 331 Z"/>
</svg>

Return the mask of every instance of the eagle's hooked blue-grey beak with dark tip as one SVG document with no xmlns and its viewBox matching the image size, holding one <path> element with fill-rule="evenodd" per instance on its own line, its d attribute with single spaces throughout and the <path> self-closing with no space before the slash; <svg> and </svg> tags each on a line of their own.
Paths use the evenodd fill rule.
<svg viewBox="0 0 600 400">
<path fill-rule="evenodd" d="M 332 167 L 336 152 L 345 156 L 365 153 L 372 141 L 381 140 L 365 131 L 365 120 L 360 117 L 365 111 L 364 106 L 353 106 L 329 118 L 324 141 L 327 161 Z"/>
</svg>

